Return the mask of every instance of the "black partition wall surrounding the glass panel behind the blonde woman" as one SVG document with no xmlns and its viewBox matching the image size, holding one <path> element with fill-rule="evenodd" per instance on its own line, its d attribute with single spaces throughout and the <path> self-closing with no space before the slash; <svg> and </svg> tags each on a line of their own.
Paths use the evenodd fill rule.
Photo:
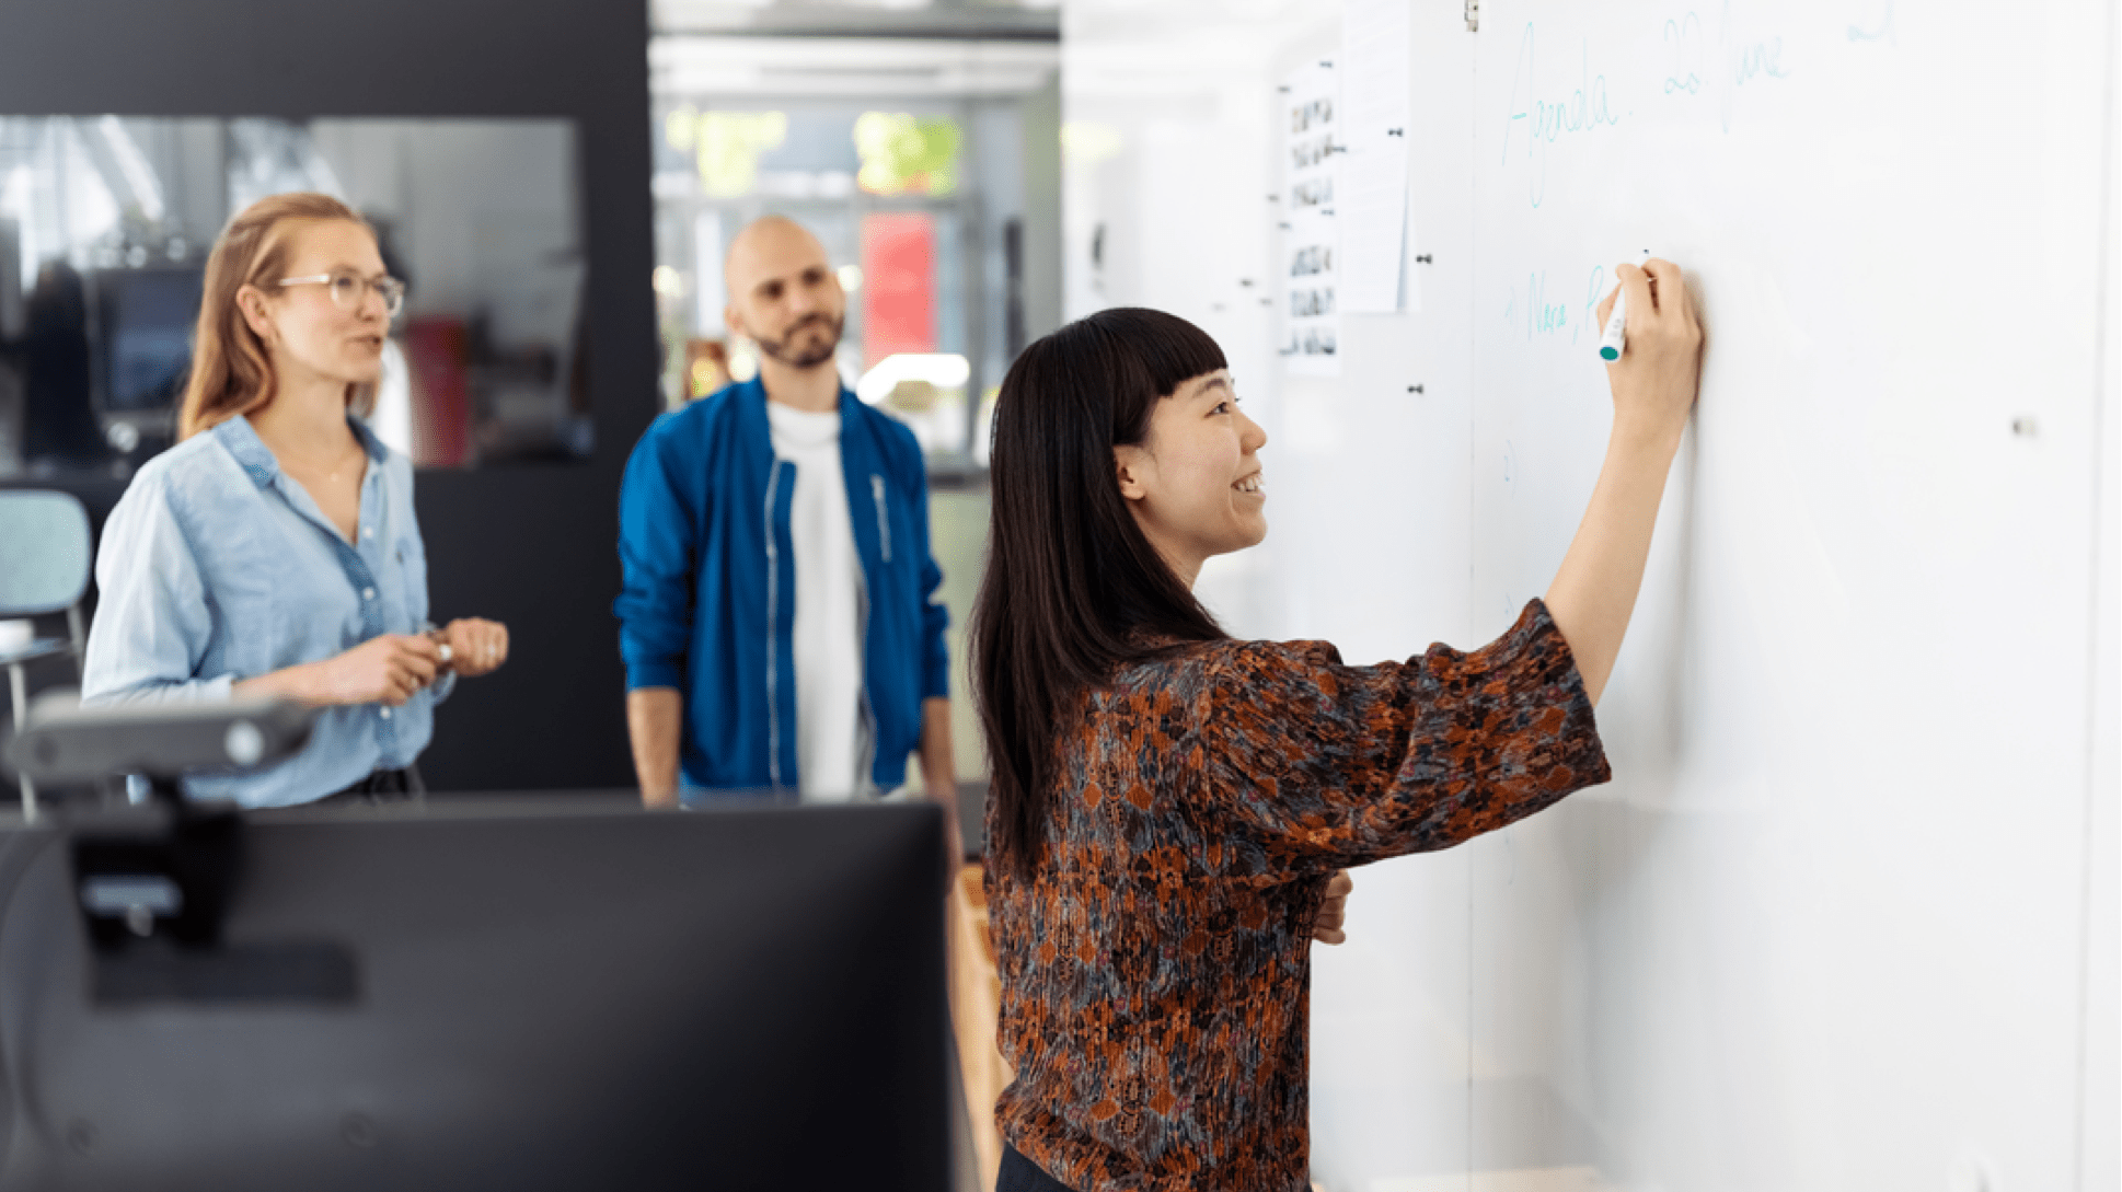
<svg viewBox="0 0 2122 1192">
<path fill-rule="evenodd" d="M 630 783 L 615 501 L 658 409 L 647 4 L 594 0 L 66 0 L 0 15 L 0 112 L 558 117 L 581 146 L 579 464 L 422 471 L 435 619 L 507 621 L 511 662 L 458 687 L 420 766 L 437 791 Z M 51 479 L 98 522 L 117 479 Z"/>
</svg>

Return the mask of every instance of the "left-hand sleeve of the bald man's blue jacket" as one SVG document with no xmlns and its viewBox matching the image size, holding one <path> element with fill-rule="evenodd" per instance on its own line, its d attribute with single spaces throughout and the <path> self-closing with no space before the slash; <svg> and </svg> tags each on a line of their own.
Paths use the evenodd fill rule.
<svg viewBox="0 0 2122 1192">
<path fill-rule="evenodd" d="M 692 641 L 694 511 L 664 458 L 660 431 L 651 426 L 634 445 L 620 486 L 622 588 L 613 613 L 628 691 L 681 687 Z"/>
</svg>

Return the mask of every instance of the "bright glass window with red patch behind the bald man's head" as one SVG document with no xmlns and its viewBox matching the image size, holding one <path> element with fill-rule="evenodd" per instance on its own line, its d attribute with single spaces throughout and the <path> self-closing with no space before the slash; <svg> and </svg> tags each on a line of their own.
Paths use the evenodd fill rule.
<svg viewBox="0 0 2122 1192">
<path fill-rule="evenodd" d="M 785 214 L 847 291 L 840 371 L 912 428 L 938 479 L 987 467 L 987 418 L 1023 346 L 1019 100 L 666 98 L 654 110 L 666 401 L 758 369 L 724 327 L 721 255 Z"/>
</svg>

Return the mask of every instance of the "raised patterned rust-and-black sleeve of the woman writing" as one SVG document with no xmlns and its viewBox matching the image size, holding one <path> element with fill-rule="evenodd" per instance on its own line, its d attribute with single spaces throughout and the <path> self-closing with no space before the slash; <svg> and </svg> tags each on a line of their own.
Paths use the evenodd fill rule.
<svg viewBox="0 0 2122 1192">
<path fill-rule="evenodd" d="M 1343 666 L 1248 643 L 1199 711 L 1207 800 L 1299 870 L 1447 848 L 1608 781 L 1577 660 L 1530 602 L 1494 643 Z"/>
</svg>

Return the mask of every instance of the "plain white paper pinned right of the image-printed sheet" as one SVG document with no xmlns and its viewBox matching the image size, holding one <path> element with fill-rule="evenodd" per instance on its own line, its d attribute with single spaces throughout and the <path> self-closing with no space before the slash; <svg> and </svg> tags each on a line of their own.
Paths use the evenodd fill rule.
<svg viewBox="0 0 2122 1192">
<path fill-rule="evenodd" d="M 1409 0 L 1341 8 L 1341 310 L 1401 310 L 1407 235 Z M 1409 308 L 1420 308 L 1409 286 Z"/>
</svg>

